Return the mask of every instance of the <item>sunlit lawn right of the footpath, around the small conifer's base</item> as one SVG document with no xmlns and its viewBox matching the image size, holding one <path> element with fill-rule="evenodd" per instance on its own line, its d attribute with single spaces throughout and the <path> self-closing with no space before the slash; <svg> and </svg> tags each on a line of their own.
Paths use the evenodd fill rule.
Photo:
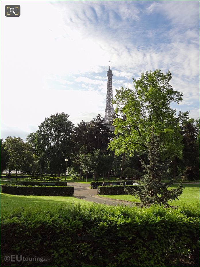
<svg viewBox="0 0 200 267">
<path fill-rule="evenodd" d="M 172 188 L 175 188 L 173 185 Z M 199 201 L 199 184 L 184 184 L 183 194 L 179 197 L 179 200 L 169 201 L 169 205 L 178 206 L 180 204 L 192 204 Z M 137 198 L 131 195 L 102 195 L 102 197 L 113 198 L 118 200 L 126 200 L 131 202 L 140 202 Z"/>
</svg>

